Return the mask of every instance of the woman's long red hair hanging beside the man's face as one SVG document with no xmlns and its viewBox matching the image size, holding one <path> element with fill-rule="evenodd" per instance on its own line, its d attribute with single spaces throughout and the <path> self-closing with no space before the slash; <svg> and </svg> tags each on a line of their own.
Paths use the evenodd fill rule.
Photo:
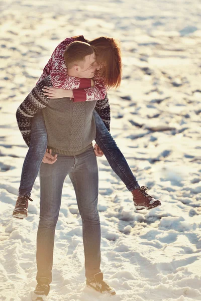
<svg viewBox="0 0 201 301">
<path fill-rule="evenodd" d="M 122 59 L 119 42 L 109 37 L 88 41 L 94 47 L 99 73 L 108 88 L 118 87 L 122 77 Z"/>
</svg>

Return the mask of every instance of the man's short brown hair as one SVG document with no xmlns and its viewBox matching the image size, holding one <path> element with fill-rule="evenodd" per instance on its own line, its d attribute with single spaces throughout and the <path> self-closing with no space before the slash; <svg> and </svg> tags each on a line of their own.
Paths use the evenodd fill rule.
<svg viewBox="0 0 201 301">
<path fill-rule="evenodd" d="M 64 51 L 64 60 L 67 68 L 80 63 L 85 56 L 94 53 L 94 47 L 88 43 L 81 41 L 74 41 L 70 43 Z"/>
</svg>

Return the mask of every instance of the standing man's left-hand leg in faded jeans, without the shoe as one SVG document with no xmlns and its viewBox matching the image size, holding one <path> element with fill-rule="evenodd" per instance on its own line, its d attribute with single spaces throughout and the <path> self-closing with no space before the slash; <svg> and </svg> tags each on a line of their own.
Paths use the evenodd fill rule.
<svg viewBox="0 0 201 301">
<path fill-rule="evenodd" d="M 64 180 L 72 171 L 74 157 L 58 155 L 52 164 L 41 164 L 40 221 L 37 233 L 37 282 L 51 283 L 55 227 L 59 216 Z"/>
</svg>

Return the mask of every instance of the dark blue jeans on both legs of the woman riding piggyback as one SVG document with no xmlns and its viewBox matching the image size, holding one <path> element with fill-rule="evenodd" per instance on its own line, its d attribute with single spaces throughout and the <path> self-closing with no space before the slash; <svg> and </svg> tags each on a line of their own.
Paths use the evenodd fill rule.
<svg viewBox="0 0 201 301">
<path fill-rule="evenodd" d="M 125 157 L 95 110 L 93 111 L 93 116 L 96 124 L 95 142 L 102 149 L 113 171 L 119 176 L 129 191 L 139 188 L 139 184 Z M 31 196 L 31 190 L 38 175 L 46 148 L 47 132 L 43 114 L 40 111 L 32 120 L 31 143 L 22 169 L 19 188 L 20 196 Z"/>
</svg>

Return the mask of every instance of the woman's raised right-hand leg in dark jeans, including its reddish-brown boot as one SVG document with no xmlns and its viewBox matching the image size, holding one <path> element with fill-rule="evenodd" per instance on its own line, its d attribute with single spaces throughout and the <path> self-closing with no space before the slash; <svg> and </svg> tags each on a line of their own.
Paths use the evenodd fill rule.
<svg viewBox="0 0 201 301">
<path fill-rule="evenodd" d="M 133 201 L 137 210 L 152 209 L 160 206 L 161 203 L 158 199 L 146 193 L 148 188 L 146 186 L 140 187 L 136 177 L 133 175 L 128 163 L 117 146 L 115 140 L 111 136 L 103 120 L 98 113 L 94 110 L 93 116 L 96 124 L 96 138 L 97 145 L 102 149 L 110 166 L 114 172 L 120 177 L 127 189 L 133 195 Z"/>
</svg>

